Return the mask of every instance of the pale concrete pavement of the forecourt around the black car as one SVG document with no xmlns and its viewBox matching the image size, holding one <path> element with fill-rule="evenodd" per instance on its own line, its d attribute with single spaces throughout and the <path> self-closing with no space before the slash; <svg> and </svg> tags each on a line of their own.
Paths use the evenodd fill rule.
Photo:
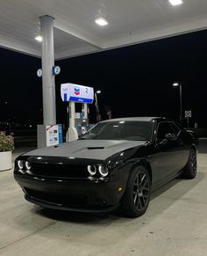
<svg viewBox="0 0 207 256">
<path fill-rule="evenodd" d="M 13 157 L 17 157 L 19 152 Z M 175 179 L 130 219 L 41 209 L 0 172 L 0 255 L 207 255 L 207 139 L 196 179 Z"/>
</svg>

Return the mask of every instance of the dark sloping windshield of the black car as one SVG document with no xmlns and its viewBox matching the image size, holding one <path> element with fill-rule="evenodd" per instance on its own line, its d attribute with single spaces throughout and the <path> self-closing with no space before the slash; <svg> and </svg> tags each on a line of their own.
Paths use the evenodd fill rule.
<svg viewBox="0 0 207 256">
<path fill-rule="evenodd" d="M 150 141 L 151 121 L 106 121 L 98 123 L 81 140 L 127 140 Z"/>
</svg>

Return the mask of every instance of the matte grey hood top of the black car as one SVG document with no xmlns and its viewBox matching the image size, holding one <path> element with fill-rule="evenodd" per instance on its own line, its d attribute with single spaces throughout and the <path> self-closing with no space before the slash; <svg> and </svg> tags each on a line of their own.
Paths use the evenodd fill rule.
<svg viewBox="0 0 207 256">
<path fill-rule="evenodd" d="M 142 141 L 78 140 L 60 144 L 58 147 L 52 146 L 39 150 L 32 150 L 25 153 L 24 156 L 78 157 L 105 160 L 118 152 L 145 143 L 146 142 Z"/>
</svg>

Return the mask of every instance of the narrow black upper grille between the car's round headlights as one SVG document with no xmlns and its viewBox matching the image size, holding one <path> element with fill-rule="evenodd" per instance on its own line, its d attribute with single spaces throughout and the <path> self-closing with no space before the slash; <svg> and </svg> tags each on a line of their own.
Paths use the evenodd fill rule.
<svg viewBox="0 0 207 256">
<path fill-rule="evenodd" d="M 85 165 L 56 165 L 32 163 L 32 175 L 59 179 L 87 178 L 88 172 Z"/>
</svg>

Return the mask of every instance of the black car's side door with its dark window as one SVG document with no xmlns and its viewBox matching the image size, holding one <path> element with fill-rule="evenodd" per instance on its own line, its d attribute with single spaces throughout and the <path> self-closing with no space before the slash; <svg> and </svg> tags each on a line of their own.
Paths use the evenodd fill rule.
<svg viewBox="0 0 207 256">
<path fill-rule="evenodd" d="M 158 174 L 156 183 L 162 183 L 176 172 L 177 142 L 166 138 L 166 135 L 175 135 L 175 130 L 169 121 L 161 121 L 155 132 L 156 139 L 151 165 L 153 165 L 153 170 Z"/>
</svg>

